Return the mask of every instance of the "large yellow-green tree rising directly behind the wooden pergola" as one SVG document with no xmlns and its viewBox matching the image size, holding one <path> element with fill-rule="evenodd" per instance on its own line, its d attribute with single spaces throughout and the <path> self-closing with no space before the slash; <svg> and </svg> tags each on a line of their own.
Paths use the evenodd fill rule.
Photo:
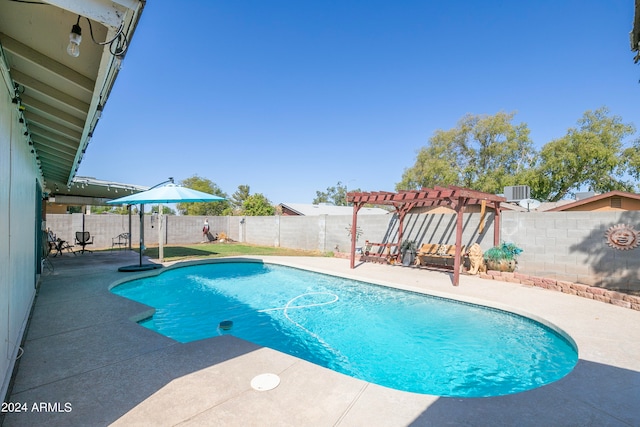
<svg viewBox="0 0 640 427">
<path fill-rule="evenodd" d="M 437 130 L 406 169 L 397 190 L 459 185 L 500 193 L 520 184 L 535 160 L 525 123 L 513 124 L 515 113 L 466 115 L 453 129 Z"/>
</svg>

